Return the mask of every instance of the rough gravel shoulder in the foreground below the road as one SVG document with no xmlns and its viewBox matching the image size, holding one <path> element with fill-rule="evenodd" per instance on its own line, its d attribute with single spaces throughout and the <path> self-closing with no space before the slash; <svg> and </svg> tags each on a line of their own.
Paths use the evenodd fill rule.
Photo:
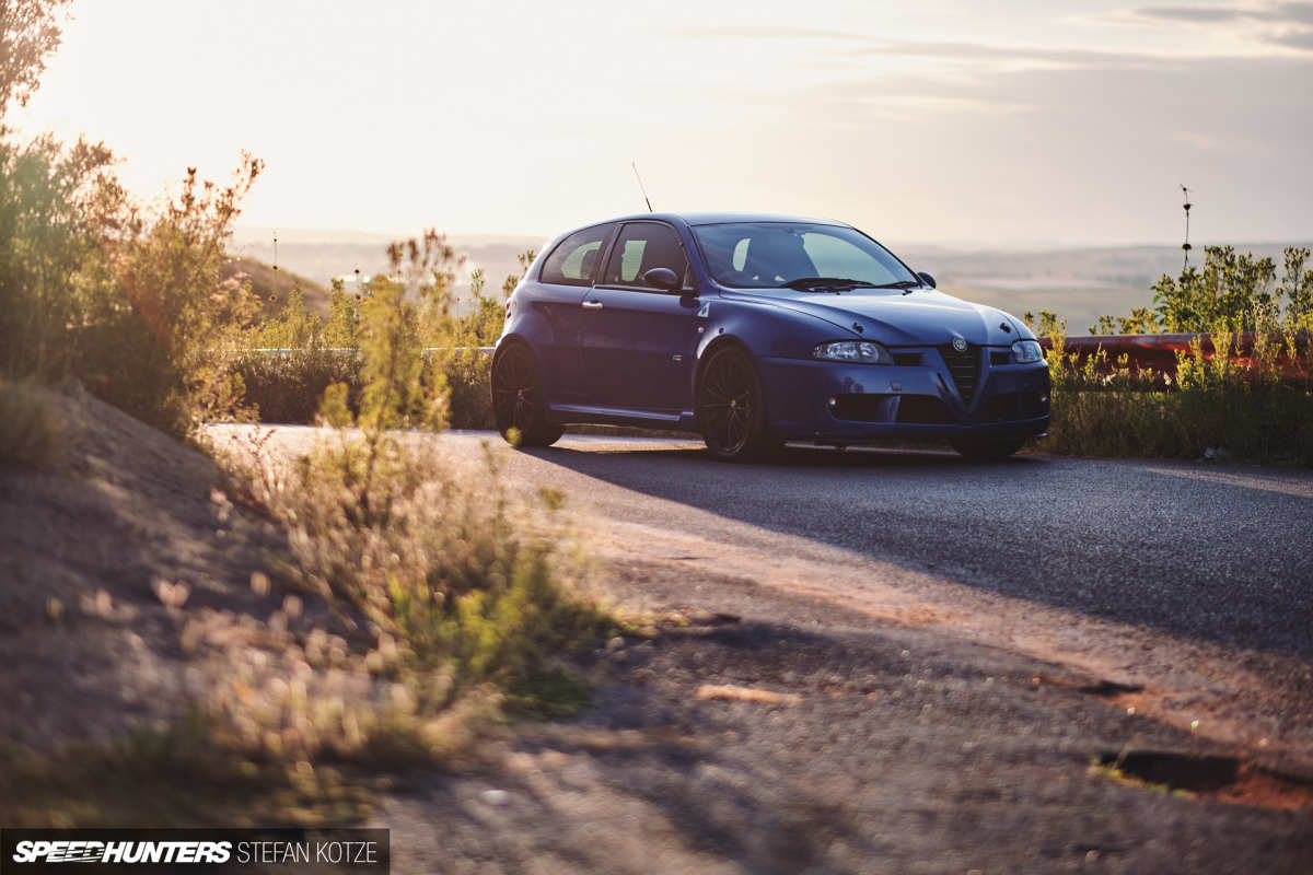
<svg viewBox="0 0 1313 875">
<path fill-rule="evenodd" d="M 1095 767 L 1217 746 L 1062 665 L 741 580 L 617 571 L 624 598 L 691 624 L 599 656 L 580 722 L 508 728 L 481 762 L 390 795 L 376 823 L 399 871 L 1302 872 L 1313 857 L 1309 808 Z"/>
</svg>

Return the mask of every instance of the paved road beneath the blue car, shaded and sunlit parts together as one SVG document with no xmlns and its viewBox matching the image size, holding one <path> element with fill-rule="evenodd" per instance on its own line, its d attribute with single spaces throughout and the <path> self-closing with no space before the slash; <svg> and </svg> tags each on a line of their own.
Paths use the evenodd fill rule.
<svg viewBox="0 0 1313 875">
<path fill-rule="evenodd" d="M 764 584 L 1144 687 L 1124 703 L 1313 766 L 1310 472 L 806 449 L 731 466 L 693 442 L 567 436 L 511 453 L 507 474 L 561 488 L 609 560 L 675 564 L 691 586 Z"/>
</svg>

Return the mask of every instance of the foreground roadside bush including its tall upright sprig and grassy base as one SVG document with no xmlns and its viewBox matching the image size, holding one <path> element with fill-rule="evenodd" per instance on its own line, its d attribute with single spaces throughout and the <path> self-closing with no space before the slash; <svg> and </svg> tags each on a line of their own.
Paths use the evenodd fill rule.
<svg viewBox="0 0 1313 875">
<path fill-rule="evenodd" d="M 397 275 L 435 275 L 444 262 L 439 247 L 411 244 L 408 265 L 398 252 Z M 280 640 L 294 665 L 310 669 L 293 686 L 280 665 L 218 665 L 214 677 L 238 670 L 242 689 L 253 691 L 215 683 L 210 711 L 239 749 L 281 758 L 432 756 L 452 744 L 450 708 L 487 685 L 517 710 L 578 708 L 586 689 L 554 657 L 614 631 L 565 584 L 576 567 L 557 547 L 559 493 L 516 504 L 490 450 L 477 476 L 456 478 L 421 437 L 400 430 L 440 428 L 446 409 L 445 382 L 424 359 L 419 332 L 440 283 L 419 283 L 418 303 L 402 289 L 376 283 L 360 304 L 357 409 L 336 383 L 319 412 L 336 433 L 290 464 L 256 453 L 235 466 L 246 499 L 288 531 L 286 576 L 357 618 L 373 639 L 364 653 L 327 631 L 306 645 Z M 282 634 L 285 623 L 274 626 Z"/>
</svg>

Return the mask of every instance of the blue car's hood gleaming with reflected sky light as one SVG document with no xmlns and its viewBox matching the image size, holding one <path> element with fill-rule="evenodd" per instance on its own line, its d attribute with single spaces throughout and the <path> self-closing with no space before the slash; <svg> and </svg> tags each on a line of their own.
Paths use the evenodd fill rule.
<svg viewBox="0 0 1313 875">
<path fill-rule="evenodd" d="M 961 337 L 969 344 L 1007 346 L 1014 340 L 1033 337 L 1024 324 L 1008 314 L 941 291 L 915 290 L 906 295 L 846 291 L 744 296 L 809 314 L 843 328 L 848 335 L 856 333 L 894 346 L 937 346 L 952 342 L 953 337 Z M 861 331 L 855 329 L 855 323 L 861 325 Z"/>
</svg>

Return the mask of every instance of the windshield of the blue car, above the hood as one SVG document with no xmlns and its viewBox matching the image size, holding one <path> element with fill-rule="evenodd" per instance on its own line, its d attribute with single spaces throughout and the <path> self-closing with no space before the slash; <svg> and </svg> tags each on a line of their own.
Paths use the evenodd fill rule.
<svg viewBox="0 0 1313 875">
<path fill-rule="evenodd" d="M 693 236 L 716 281 L 735 289 L 920 285 L 889 251 L 843 226 L 734 222 L 695 226 Z M 835 282 L 842 279 L 855 282 Z"/>
</svg>

